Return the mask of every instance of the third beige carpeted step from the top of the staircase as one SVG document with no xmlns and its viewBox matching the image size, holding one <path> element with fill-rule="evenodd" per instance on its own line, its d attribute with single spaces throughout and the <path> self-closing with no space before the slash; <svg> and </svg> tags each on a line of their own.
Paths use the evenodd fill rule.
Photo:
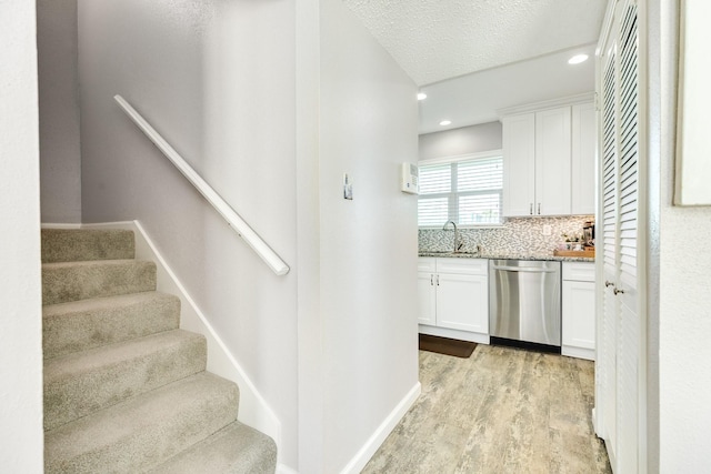
<svg viewBox="0 0 711 474">
<path fill-rule="evenodd" d="M 180 299 L 132 293 L 50 304 L 42 309 L 44 359 L 178 329 Z"/>
</svg>

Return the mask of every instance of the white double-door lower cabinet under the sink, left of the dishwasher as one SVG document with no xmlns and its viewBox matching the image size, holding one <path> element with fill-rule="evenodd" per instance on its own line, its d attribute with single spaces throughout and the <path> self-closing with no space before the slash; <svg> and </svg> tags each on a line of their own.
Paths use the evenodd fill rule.
<svg viewBox="0 0 711 474">
<path fill-rule="evenodd" d="M 420 332 L 489 342 L 489 274 L 484 259 L 419 259 Z"/>
</svg>

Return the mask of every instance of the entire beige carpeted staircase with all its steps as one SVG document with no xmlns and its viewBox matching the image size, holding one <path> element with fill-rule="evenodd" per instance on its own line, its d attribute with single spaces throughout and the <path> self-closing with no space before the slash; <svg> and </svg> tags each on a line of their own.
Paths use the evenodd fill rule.
<svg viewBox="0 0 711 474">
<path fill-rule="evenodd" d="M 46 473 L 273 473 L 130 231 L 42 230 Z"/>
</svg>

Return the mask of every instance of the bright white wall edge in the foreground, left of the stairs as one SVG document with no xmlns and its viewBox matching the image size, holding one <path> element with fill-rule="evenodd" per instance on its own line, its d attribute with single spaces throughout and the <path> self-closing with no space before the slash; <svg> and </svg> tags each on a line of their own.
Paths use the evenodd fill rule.
<svg viewBox="0 0 711 474">
<path fill-rule="evenodd" d="M 0 3 L 0 466 L 43 471 L 34 2 Z"/>
</svg>

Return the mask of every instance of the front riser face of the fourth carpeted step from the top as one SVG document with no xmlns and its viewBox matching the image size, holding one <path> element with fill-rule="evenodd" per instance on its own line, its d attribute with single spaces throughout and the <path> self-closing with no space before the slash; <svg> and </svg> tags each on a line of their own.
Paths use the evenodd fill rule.
<svg viewBox="0 0 711 474">
<path fill-rule="evenodd" d="M 56 360 L 46 369 L 44 430 L 204 371 L 204 337 L 191 337 L 140 357 L 111 365 L 67 371 Z M 58 373 L 59 372 L 59 373 Z"/>
</svg>

